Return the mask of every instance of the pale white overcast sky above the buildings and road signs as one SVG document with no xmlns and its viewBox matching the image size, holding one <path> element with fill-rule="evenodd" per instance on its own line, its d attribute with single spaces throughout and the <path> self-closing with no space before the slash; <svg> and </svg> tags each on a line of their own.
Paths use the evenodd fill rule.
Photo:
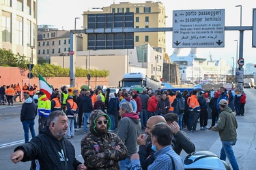
<svg viewBox="0 0 256 170">
<path fill-rule="evenodd" d="M 144 3 L 141 0 L 38 0 L 38 24 L 54 25 L 55 28 L 70 30 L 74 29 L 74 18 L 76 19 L 76 29 L 83 26 L 83 12 L 91 10 L 91 7 L 109 6 L 113 2 Z M 155 1 L 156 2 L 156 1 Z M 225 26 L 240 26 L 240 7 L 242 5 L 242 26 L 253 25 L 253 8 L 256 8 L 255 0 L 162 0 L 168 16 L 167 27 L 173 27 L 173 10 L 203 10 L 203 9 L 225 9 Z M 255 25 L 256 27 L 256 25 Z M 256 33 L 255 33 L 256 35 Z M 256 48 L 252 48 L 252 31 L 244 31 L 244 62 L 256 64 Z M 197 48 L 197 56 L 210 59 L 225 59 L 232 67 L 232 59 L 236 58 L 236 40 L 239 31 L 225 31 L 225 48 Z M 167 53 L 169 56 L 173 52 L 172 32 L 166 33 Z M 183 48 L 181 55 L 187 55 L 190 48 Z M 239 53 L 238 53 L 239 57 Z"/>
</svg>

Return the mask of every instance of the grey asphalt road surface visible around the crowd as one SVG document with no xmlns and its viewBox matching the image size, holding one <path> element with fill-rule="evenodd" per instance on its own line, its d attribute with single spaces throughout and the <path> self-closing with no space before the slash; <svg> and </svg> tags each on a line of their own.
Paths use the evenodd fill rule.
<svg viewBox="0 0 256 170">
<path fill-rule="evenodd" d="M 255 96 L 256 90 L 254 88 L 244 89 L 246 92 L 246 113 L 245 116 L 238 116 L 238 141 L 236 146 L 233 147 L 238 165 L 240 169 L 255 169 L 255 155 L 256 155 L 256 127 L 254 111 L 256 110 Z M 14 106 L 0 106 L 0 169 L 29 169 L 30 163 L 18 163 L 14 164 L 10 160 L 16 146 L 24 143 L 23 126 L 20 122 L 20 107 L 22 103 L 14 103 Z M 35 118 L 35 129 L 38 134 L 38 117 Z M 208 120 L 208 126 L 211 120 Z M 199 130 L 199 124 L 197 124 L 197 130 Z M 208 150 L 219 156 L 221 150 L 221 140 L 218 137 L 218 133 L 209 130 L 199 130 L 195 133 L 188 133 L 187 129 L 184 129 L 191 141 L 195 143 L 196 151 Z M 85 134 L 83 129 L 77 129 L 74 139 L 70 139 L 76 150 L 76 158 L 83 163 L 81 156 L 80 141 Z M 31 137 L 31 135 L 30 135 Z M 186 152 L 182 151 L 180 156 L 184 158 Z M 227 163 L 229 161 L 227 160 Z"/>
</svg>

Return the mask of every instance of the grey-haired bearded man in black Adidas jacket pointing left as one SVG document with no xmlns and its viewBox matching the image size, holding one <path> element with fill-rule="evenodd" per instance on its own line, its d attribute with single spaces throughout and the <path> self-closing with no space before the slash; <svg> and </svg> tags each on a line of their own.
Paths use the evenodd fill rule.
<svg viewBox="0 0 256 170">
<path fill-rule="evenodd" d="M 12 162 L 37 159 L 37 167 L 31 169 L 87 169 L 76 160 L 74 146 L 64 138 L 67 130 L 66 114 L 59 110 L 51 112 L 44 131 L 29 143 L 15 148 L 11 156 Z"/>
</svg>

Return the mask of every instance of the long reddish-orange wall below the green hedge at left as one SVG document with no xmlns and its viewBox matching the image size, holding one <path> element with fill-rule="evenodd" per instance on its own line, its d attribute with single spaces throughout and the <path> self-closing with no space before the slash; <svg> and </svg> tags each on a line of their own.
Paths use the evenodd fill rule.
<svg viewBox="0 0 256 170">
<path fill-rule="evenodd" d="M 27 78 L 27 74 L 29 71 L 25 71 L 24 73 L 20 73 L 20 69 L 17 67 L 0 67 L 0 86 L 10 85 L 10 84 L 20 84 L 20 86 L 24 83 L 29 84 L 29 78 Z M 53 85 L 54 88 L 60 88 L 63 85 L 70 84 L 70 78 L 44 78 L 48 84 Z M 35 84 L 39 87 L 38 78 L 32 78 L 30 80 L 30 84 Z M 83 84 L 88 84 L 87 78 L 76 78 L 75 86 L 80 88 Z M 109 86 L 109 78 L 91 78 L 90 86 L 91 88 L 95 88 L 96 85 L 105 85 Z"/>
</svg>

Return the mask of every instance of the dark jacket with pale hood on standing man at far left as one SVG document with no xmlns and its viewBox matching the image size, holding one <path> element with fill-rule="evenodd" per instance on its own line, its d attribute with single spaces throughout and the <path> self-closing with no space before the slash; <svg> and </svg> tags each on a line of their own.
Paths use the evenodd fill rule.
<svg viewBox="0 0 256 170">
<path fill-rule="evenodd" d="M 33 99 L 29 97 L 25 100 L 25 103 L 23 103 L 23 106 L 21 107 L 20 111 L 20 121 L 31 121 L 35 120 L 35 116 L 38 114 L 37 106 L 33 102 Z"/>
</svg>

